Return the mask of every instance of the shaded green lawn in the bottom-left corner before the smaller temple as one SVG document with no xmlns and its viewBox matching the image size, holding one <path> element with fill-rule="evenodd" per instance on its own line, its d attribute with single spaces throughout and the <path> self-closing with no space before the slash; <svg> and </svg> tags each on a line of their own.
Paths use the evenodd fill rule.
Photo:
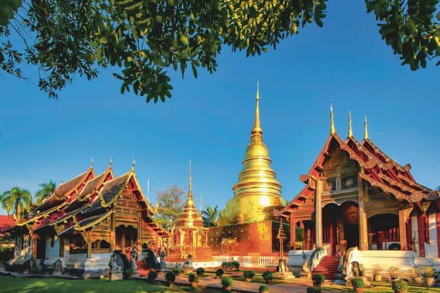
<svg viewBox="0 0 440 293">
<path fill-rule="evenodd" d="M 1 293 L 151 293 L 151 292 L 209 292 L 218 293 L 218 290 L 192 289 L 190 287 L 175 286 L 170 289 L 164 285 L 153 285 L 146 281 L 106 281 L 98 279 L 66 280 L 58 278 L 14 278 L 0 275 Z"/>
</svg>

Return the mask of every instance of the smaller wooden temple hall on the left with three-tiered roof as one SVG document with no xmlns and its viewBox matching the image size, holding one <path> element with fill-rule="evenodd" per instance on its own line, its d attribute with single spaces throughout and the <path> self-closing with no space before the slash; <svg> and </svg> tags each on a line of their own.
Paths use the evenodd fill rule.
<svg viewBox="0 0 440 293">
<path fill-rule="evenodd" d="M 156 251 L 162 245 L 168 233 L 154 222 L 154 213 L 137 181 L 134 162 L 129 172 L 116 178 L 111 163 L 98 176 L 90 165 L 59 185 L 31 218 L 10 229 L 17 249 L 8 265 L 38 270 L 59 260 L 66 270 L 107 270 L 113 250 L 130 258 L 133 247 L 140 253 L 142 246 Z"/>
</svg>

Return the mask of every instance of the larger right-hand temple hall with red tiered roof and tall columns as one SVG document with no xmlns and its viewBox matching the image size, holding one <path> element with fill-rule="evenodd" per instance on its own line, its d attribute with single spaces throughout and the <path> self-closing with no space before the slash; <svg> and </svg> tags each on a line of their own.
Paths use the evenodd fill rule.
<svg viewBox="0 0 440 293">
<path fill-rule="evenodd" d="M 439 257 L 439 192 L 417 183 L 410 165 L 390 159 L 368 135 L 351 130 L 341 139 L 333 124 L 318 158 L 300 180 L 305 187 L 282 214 L 289 218 L 290 243 L 298 248 L 296 226 L 304 228 L 304 248 L 325 245 L 331 253 L 360 250 L 413 250 Z"/>
</svg>

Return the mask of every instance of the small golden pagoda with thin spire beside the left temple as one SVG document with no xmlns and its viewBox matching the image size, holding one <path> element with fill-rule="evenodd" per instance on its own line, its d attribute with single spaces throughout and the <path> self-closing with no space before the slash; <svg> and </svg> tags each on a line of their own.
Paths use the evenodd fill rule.
<svg viewBox="0 0 440 293">
<path fill-rule="evenodd" d="M 212 253 L 208 247 L 209 229 L 203 226 L 201 211 L 197 212 L 192 198 L 191 161 L 188 181 L 188 199 L 171 236 L 171 247 L 166 259 L 184 261 L 188 255 L 192 255 L 194 262 L 212 261 Z"/>
</svg>

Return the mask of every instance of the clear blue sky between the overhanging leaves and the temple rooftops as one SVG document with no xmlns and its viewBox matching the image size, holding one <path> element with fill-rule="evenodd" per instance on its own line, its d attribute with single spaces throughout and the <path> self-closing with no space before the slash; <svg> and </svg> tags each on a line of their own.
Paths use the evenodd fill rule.
<svg viewBox="0 0 440 293">
<path fill-rule="evenodd" d="M 257 80 L 264 141 L 287 200 L 303 187 L 298 178 L 327 139 L 331 102 L 341 137 L 351 110 L 362 140 L 366 115 L 370 137 L 384 152 L 411 163 L 419 183 L 439 186 L 440 67 L 402 67 L 363 1 L 330 1 L 328 12 L 323 28 L 306 27 L 262 56 L 223 47 L 214 74 L 200 70 L 195 79 L 188 71 L 182 80 L 171 73 L 173 97 L 165 103 L 121 95 L 110 71 L 91 82 L 76 79 L 58 100 L 39 91 L 34 69 L 23 70 L 33 84 L 2 73 L 0 191 L 65 182 L 87 169 L 92 156 L 97 173 L 111 157 L 119 175 L 134 156 L 144 191 L 151 180 L 154 202 L 173 183 L 187 189 L 192 159 L 193 194 L 202 196 L 203 207 L 223 209 L 250 140 Z"/>
</svg>

